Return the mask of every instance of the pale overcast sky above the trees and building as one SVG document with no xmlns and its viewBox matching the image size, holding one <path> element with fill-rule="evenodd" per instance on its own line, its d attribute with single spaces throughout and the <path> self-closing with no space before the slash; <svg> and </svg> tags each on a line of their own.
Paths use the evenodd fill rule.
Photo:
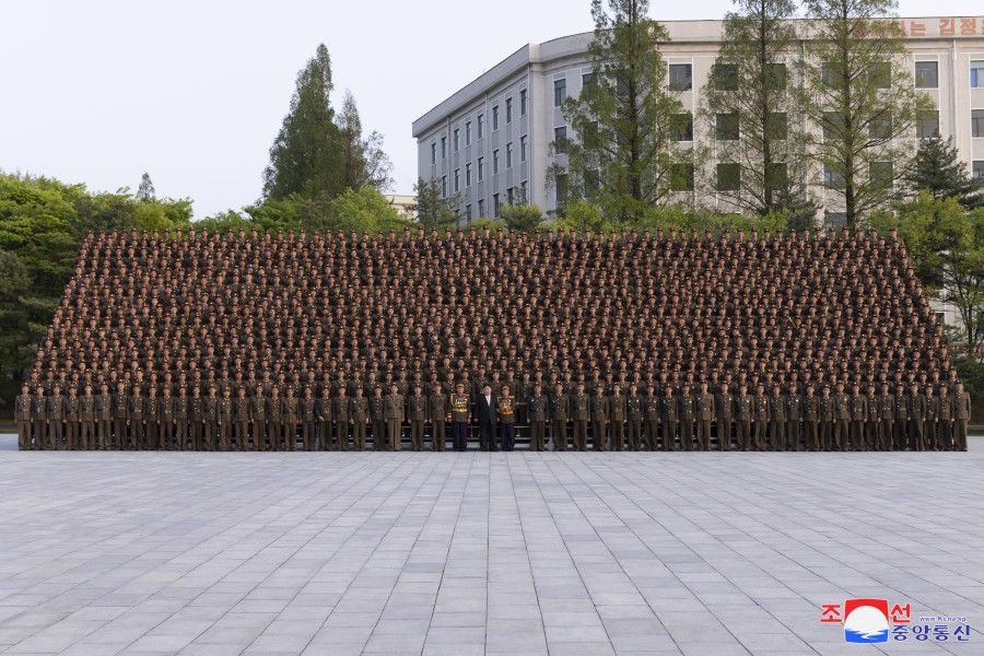
<svg viewBox="0 0 984 656">
<path fill-rule="evenodd" d="M 657 20 L 721 19 L 729 0 L 653 0 Z M 411 194 L 411 124 L 527 43 L 593 28 L 590 0 L 31 0 L 2 2 L 0 169 L 191 198 L 195 219 L 262 190 L 294 81 L 318 44 L 332 104 L 355 96 Z M 979 15 L 902 0 L 901 15 Z"/>
</svg>

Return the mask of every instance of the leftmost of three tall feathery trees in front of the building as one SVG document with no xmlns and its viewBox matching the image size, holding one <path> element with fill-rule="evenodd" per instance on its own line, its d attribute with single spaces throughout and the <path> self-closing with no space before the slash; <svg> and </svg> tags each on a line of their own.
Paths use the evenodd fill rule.
<svg viewBox="0 0 984 656">
<path fill-rule="evenodd" d="M 648 0 L 593 0 L 590 81 L 562 109 L 577 138 L 551 147 L 566 165 L 549 168 L 548 188 L 597 202 L 610 221 L 636 220 L 693 187 L 692 150 L 677 143 L 688 119 L 660 54 L 669 35 L 648 9 Z"/>
</svg>

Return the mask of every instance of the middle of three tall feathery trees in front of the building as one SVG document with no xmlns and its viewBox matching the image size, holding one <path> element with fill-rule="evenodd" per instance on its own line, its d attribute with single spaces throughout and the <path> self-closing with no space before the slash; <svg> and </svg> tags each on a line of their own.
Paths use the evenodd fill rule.
<svg viewBox="0 0 984 656">
<path fill-rule="evenodd" d="M 704 86 L 700 115 L 718 165 L 713 186 L 730 204 L 765 215 L 795 208 L 816 214 L 806 191 L 800 96 L 789 91 L 797 43 L 793 0 L 735 0 Z"/>
</svg>

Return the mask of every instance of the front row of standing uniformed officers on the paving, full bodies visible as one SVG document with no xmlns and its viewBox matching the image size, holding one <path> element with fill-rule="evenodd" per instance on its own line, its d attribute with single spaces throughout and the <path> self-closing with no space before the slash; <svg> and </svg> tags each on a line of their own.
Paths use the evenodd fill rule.
<svg viewBox="0 0 984 656">
<path fill-rule="evenodd" d="M 130 394 L 124 385 L 112 394 L 86 387 L 81 396 L 59 387 L 46 396 L 24 385 L 16 399 L 19 445 L 26 449 L 162 449 L 162 450 L 295 450 L 301 438 L 304 450 L 364 450 L 371 435 L 375 450 L 399 450 L 409 426 L 413 450 L 422 450 L 426 437 L 433 450 L 445 450 L 450 425 L 454 450 L 466 450 L 469 429 L 478 433 L 482 450 L 513 450 L 517 424 L 529 431 L 530 448 L 542 450 L 710 450 L 712 432 L 721 450 L 967 450 L 970 395 L 958 383 L 953 394 L 947 386 L 912 385 L 892 394 L 882 385 L 880 394 L 857 385 L 851 393 L 837 385 L 805 394 L 790 386 L 787 394 L 776 386 L 771 394 L 760 385 L 754 394 L 742 386 L 731 394 L 723 386 L 716 394 L 702 383 L 694 394 L 677 395 L 667 387 L 656 395 L 653 387 L 640 395 L 633 385 L 628 395 L 619 387 L 594 395 L 577 386 L 576 394 L 546 395 L 540 385 L 518 402 L 503 387 L 493 396 L 485 386 L 472 398 L 459 384 L 450 395 L 424 395 L 420 387 L 403 398 L 396 386 L 390 394 L 376 388 L 371 397 L 362 389 L 349 398 L 343 388 L 329 397 L 325 389 L 315 398 L 311 389 L 296 398 L 292 388 L 281 397 L 247 397 L 239 389 L 222 397 L 212 388 L 202 396 L 196 387 L 173 397 L 140 387 Z M 477 431 L 476 431 L 477 429 Z M 713 429 L 713 431 L 712 431 Z"/>
</svg>

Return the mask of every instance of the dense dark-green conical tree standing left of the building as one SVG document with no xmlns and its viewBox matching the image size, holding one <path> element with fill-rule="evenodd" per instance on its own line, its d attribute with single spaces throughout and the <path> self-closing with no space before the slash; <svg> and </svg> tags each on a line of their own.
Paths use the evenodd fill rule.
<svg viewBox="0 0 984 656">
<path fill-rule="evenodd" d="M 296 89 L 263 171 L 263 197 L 278 200 L 291 194 L 341 194 L 339 129 L 330 94 L 331 58 L 320 44 L 314 58 L 297 73 Z"/>
</svg>

